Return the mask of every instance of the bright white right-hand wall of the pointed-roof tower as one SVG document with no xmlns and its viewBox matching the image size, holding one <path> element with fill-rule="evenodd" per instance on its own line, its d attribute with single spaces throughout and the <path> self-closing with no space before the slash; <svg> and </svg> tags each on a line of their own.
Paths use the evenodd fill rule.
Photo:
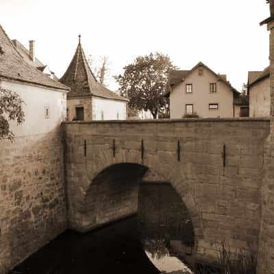
<svg viewBox="0 0 274 274">
<path fill-rule="evenodd" d="M 92 120 L 127 119 L 127 102 L 92 97 Z"/>
</svg>

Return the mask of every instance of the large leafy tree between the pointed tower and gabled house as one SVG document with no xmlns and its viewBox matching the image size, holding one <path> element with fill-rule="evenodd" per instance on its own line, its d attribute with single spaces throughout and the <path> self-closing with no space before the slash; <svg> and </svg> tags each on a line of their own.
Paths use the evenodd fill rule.
<svg viewBox="0 0 274 274">
<path fill-rule="evenodd" d="M 153 119 L 166 114 L 164 94 L 169 91 L 169 71 L 175 69 L 169 56 L 162 53 L 138 56 L 123 69 L 123 75 L 114 78 L 121 86 L 121 95 L 129 99 L 129 108 L 150 110 Z"/>
</svg>

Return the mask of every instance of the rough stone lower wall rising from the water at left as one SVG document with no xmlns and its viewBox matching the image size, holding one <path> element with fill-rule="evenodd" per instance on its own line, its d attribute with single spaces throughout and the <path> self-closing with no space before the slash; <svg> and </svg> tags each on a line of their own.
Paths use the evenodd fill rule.
<svg viewBox="0 0 274 274">
<path fill-rule="evenodd" d="M 61 134 L 0 140 L 0 273 L 66 229 Z"/>
</svg>

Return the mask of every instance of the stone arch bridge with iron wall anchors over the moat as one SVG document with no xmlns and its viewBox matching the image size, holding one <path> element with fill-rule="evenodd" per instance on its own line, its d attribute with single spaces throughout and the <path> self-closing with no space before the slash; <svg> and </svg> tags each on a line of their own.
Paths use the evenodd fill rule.
<svg viewBox="0 0 274 274">
<path fill-rule="evenodd" d="M 197 258 L 216 242 L 258 253 L 269 119 L 63 124 L 69 227 L 86 232 L 138 210 L 140 182 L 169 182 L 192 221 Z"/>
</svg>

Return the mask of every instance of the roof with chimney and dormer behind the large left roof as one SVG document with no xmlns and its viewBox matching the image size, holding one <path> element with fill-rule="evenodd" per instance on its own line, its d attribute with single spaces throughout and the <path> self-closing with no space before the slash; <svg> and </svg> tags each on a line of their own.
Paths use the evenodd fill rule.
<svg viewBox="0 0 274 274">
<path fill-rule="evenodd" d="M 39 71 L 42 71 L 42 73 L 45 73 L 47 76 L 51 77 L 51 79 L 58 81 L 58 77 L 56 77 L 55 73 L 49 69 L 49 66 L 42 64 L 42 62 L 40 62 L 40 60 L 38 60 L 36 57 L 34 40 L 29 41 L 29 49 L 26 49 L 21 44 L 21 42 L 16 39 L 12 40 L 12 43 L 16 47 L 17 51 L 21 54 L 25 62 L 27 62 L 27 64 L 34 66 Z"/>
</svg>

